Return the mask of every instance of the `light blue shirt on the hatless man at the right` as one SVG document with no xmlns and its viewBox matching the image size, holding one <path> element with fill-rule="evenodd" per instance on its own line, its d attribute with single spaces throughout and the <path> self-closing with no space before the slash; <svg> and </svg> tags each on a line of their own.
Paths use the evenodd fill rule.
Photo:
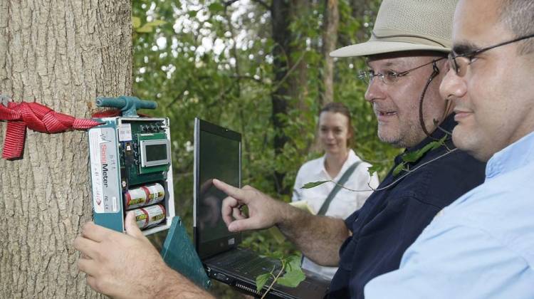
<svg viewBox="0 0 534 299">
<path fill-rule="evenodd" d="M 534 298 L 534 132 L 491 157 L 365 298 Z"/>
</svg>

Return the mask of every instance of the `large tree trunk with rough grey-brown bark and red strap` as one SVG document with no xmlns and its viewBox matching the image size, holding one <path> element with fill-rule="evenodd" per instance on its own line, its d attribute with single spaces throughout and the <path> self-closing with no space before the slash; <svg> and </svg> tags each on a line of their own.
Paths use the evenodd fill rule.
<svg viewBox="0 0 534 299">
<path fill-rule="evenodd" d="M 75 117 L 98 95 L 130 94 L 130 11 L 128 0 L 1 0 L 0 93 Z M 100 297 L 73 248 L 92 217 L 87 133 L 28 130 L 23 158 L 0 169 L 0 297 Z"/>
</svg>

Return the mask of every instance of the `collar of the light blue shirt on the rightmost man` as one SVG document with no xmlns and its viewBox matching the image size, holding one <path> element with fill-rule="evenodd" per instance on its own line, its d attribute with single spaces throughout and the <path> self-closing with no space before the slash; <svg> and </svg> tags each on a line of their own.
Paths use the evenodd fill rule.
<svg viewBox="0 0 534 299">
<path fill-rule="evenodd" d="M 486 178 L 496 177 L 534 162 L 534 132 L 493 154 L 486 165 Z"/>
</svg>

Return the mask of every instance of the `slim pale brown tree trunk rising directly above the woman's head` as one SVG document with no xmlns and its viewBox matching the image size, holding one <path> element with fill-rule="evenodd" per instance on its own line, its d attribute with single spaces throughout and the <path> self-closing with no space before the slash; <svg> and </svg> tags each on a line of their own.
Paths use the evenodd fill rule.
<svg viewBox="0 0 534 299">
<path fill-rule="evenodd" d="M 337 48 L 337 28 L 340 23 L 340 12 L 337 0 L 325 0 L 325 27 L 323 30 L 323 56 L 325 66 L 323 72 L 323 86 L 320 107 L 334 101 L 334 58 L 330 52 Z"/>
</svg>

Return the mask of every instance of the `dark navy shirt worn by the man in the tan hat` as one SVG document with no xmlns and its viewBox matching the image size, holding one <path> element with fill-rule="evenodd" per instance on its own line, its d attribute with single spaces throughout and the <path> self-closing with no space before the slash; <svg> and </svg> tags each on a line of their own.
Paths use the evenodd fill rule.
<svg viewBox="0 0 534 299">
<path fill-rule="evenodd" d="M 451 131 L 454 125 L 450 116 L 441 127 Z M 432 133 L 437 139 L 442 136 L 441 130 Z M 419 150 L 431 141 L 427 137 L 406 151 Z M 450 140 L 447 145 L 449 150 L 454 148 Z M 442 146 L 427 152 L 409 169 L 437 159 L 399 182 L 395 181 L 404 172 L 396 177 L 389 172 L 378 189 L 389 187 L 373 192 L 362 209 L 345 219 L 352 236 L 340 248 L 340 265 L 330 283 L 329 298 L 364 298 L 365 284 L 397 270 L 404 251 L 441 209 L 483 182 L 485 163 L 460 150 L 447 151 Z M 401 155 L 395 158 L 395 166 L 400 162 Z"/>
</svg>

